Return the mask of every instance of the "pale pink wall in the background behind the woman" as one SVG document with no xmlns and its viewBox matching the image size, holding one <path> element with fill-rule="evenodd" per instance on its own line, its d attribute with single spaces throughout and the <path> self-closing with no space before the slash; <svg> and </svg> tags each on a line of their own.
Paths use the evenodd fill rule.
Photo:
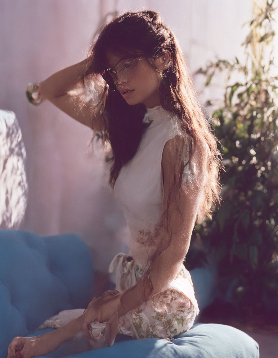
<svg viewBox="0 0 278 358">
<path fill-rule="evenodd" d="M 220 0 L 0 2 L 0 107 L 16 113 L 27 152 L 29 199 L 21 228 L 39 234 L 79 233 L 103 271 L 113 255 L 126 251 L 126 243 L 121 212 L 110 190 L 103 188 L 101 154 L 85 155 L 89 128 L 51 103 L 31 106 L 25 88 L 83 59 L 106 13 L 142 6 L 161 12 L 194 72 L 215 55 L 238 54 L 244 39 L 241 24 L 250 18 L 252 1 L 225 6 Z"/>
</svg>

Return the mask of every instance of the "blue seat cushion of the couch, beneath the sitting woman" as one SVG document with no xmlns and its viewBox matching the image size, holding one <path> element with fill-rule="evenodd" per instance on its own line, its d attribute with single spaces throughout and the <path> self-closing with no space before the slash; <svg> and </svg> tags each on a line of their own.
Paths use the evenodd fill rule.
<svg viewBox="0 0 278 358">
<path fill-rule="evenodd" d="M 46 332 L 38 331 L 34 335 Z M 33 336 L 33 335 L 32 335 Z M 130 340 L 123 335 L 112 347 L 72 354 L 72 342 L 44 357 L 51 358 L 258 358 L 259 346 L 246 333 L 222 324 L 197 323 L 187 332 L 169 342 L 148 338 Z M 64 352 L 63 352 L 64 350 Z M 65 353 L 66 355 L 64 355 Z M 40 357 L 43 358 L 43 357 Z"/>
</svg>

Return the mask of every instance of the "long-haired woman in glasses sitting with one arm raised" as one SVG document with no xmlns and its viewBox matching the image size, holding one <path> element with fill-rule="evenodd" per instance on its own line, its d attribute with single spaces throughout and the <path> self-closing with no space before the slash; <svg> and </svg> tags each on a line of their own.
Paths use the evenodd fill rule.
<svg viewBox="0 0 278 358">
<path fill-rule="evenodd" d="M 130 253 L 110 265 L 115 291 L 41 326 L 59 327 L 53 332 L 14 338 L 8 357 L 47 354 L 81 331 L 92 349 L 112 345 L 117 333 L 172 339 L 191 328 L 199 309 L 183 261 L 195 222 L 219 202 L 221 158 L 174 34 L 154 11 L 121 15 L 104 26 L 85 61 L 28 93 L 103 140 Z"/>
</svg>

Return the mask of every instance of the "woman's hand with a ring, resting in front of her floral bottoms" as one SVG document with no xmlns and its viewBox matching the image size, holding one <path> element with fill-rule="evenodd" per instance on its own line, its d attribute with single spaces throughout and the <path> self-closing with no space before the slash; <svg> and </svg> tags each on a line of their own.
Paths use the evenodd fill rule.
<svg viewBox="0 0 278 358">
<path fill-rule="evenodd" d="M 114 343 L 118 330 L 119 316 L 118 311 L 121 305 L 121 295 L 119 291 L 105 291 L 101 297 L 93 298 L 84 313 L 80 316 L 81 330 L 88 339 L 92 339 L 89 324 L 98 321 L 106 322 L 104 337 L 106 343 L 111 346 Z"/>
</svg>

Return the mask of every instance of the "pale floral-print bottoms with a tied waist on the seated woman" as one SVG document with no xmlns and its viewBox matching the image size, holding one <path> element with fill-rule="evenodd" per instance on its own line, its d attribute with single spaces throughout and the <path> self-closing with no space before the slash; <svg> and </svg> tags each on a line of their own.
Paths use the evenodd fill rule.
<svg viewBox="0 0 278 358">
<path fill-rule="evenodd" d="M 119 253 L 110 264 L 109 272 L 116 271 L 116 290 L 123 291 L 142 277 L 142 266 L 132 257 Z M 59 328 L 79 316 L 83 310 L 62 311 L 46 320 L 39 329 Z M 180 266 L 177 277 L 167 289 L 148 299 L 140 306 L 129 311 L 119 319 L 118 334 L 131 336 L 132 339 L 172 338 L 189 330 L 199 313 L 194 296 L 193 284 L 184 265 Z M 100 348 L 104 343 L 105 322 L 92 322 L 91 335 L 95 342 L 91 348 Z"/>
</svg>

